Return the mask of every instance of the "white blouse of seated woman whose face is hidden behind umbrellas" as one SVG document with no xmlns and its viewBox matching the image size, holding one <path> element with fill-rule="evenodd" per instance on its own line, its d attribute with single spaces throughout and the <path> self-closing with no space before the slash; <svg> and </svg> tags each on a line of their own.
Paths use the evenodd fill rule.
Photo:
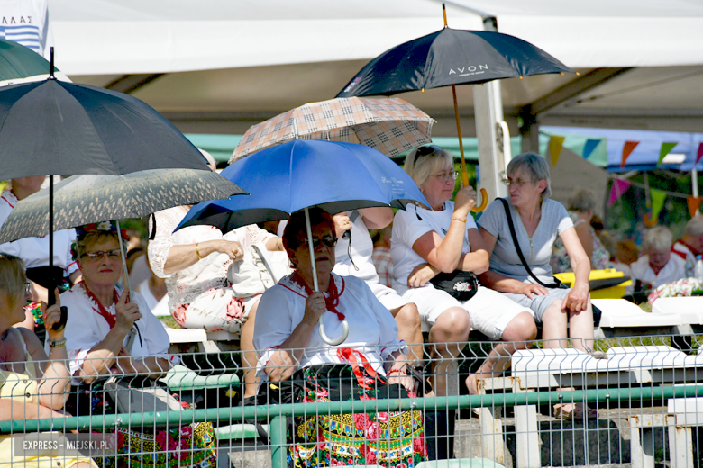
<svg viewBox="0 0 703 468">
<path fill-rule="evenodd" d="M 214 226 L 191 226 L 173 232 L 180 221 L 186 217 L 187 212 L 187 207 L 177 206 L 154 213 L 156 233 L 151 232 L 153 226 L 151 222 L 149 224 L 150 238 L 153 237 L 149 241 L 149 263 L 154 275 L 166 278 L 171 312 L 180 305 L 194 302 L 201 294 L 223 287 L 227 279 L 227 268 L 232 264 L 227 254 L 213 252 L 196 264 L 167 275 L 164 273 L 164 266 L 169 258 L 171 246 L 194 245 L 207 240 L 225 239 L 235 240 L 242 244 L 242 247 L 247 248 L 255 243 L 265 243 L 269 238 L 275 237 L 254 224 L 234 229 L 224 235 Z"/>
</svg>

